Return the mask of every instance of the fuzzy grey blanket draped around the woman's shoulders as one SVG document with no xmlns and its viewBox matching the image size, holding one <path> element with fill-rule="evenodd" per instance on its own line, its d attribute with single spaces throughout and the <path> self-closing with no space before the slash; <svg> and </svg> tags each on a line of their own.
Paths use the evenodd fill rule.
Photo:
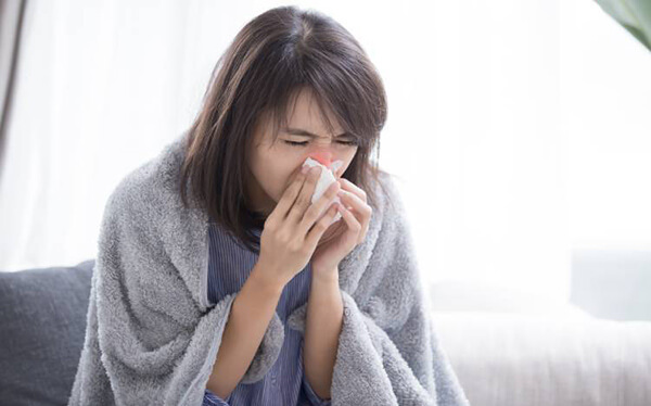
<svg viewBox="0 0 651 406">
<path fill-rule="evenodd" d="M 208 218 L 177 191 L 186 137 L 127 175 L 104 207 L 87 329 L 68 405 L 202 404 L 237 293 L 207 300 Z M 394 205 L 373 207 L 366 240 L 340 264 L 344 319 L 332 405 L 469 405 L 439 346 L 409 225 Z M 304 332 L 307 304 L 288 318 Z M 243 383 L 276 361 L 277 314 Z"/>
</svg>

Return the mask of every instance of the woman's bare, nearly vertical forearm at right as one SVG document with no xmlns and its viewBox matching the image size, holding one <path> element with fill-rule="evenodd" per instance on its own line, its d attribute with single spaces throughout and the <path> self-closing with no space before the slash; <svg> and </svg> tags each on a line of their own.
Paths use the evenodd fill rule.
<svg viewBox="0 0 651 406">
<path fill-rule="evenodd" d="M 321 398 L 330 398 L 343 319 L 339 278 L 320 280 L 312 277 L 307 301 L 303 364 L 309 384 Z"/>
</svg>

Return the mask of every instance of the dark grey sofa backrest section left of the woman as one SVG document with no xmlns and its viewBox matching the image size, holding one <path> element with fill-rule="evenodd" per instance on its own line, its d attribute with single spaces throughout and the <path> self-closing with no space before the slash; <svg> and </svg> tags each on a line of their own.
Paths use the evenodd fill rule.
<svg viewBox="0 0 651 406">
<path fill-rule="evenodd" d="M 0 405 L 67 404 L 93 266 L 0 272 Z"/>
</svg>

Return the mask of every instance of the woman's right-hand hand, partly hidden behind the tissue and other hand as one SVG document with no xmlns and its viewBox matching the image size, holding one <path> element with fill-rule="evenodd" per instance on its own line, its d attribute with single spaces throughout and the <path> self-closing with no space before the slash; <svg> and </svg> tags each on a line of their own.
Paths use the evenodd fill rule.
<svg viewBox="0 0 651 406">
<path fill-rule="evenodd" d="M 340 262 L 363 241 L 373 213 L 362 189 L 345 178 L 339 178 L 337 181 L 341 186 L 339 196 L 342 205 L 339 211 L 342 219 L 332 225 L 337 227 L 333 238 L 319 243 L 312 254 L 312 279 L 332 280 L 339 277 Z"/>
</svg>

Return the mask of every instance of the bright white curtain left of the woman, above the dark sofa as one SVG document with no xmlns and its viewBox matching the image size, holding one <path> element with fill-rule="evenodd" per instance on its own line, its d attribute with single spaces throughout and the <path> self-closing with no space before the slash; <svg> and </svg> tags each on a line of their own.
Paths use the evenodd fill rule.
<svg viewBox="0 0 651 406">
<path fill-rule="evenodd" d="M 108 194 L 189 126 L 219 52 L 253 12 L 29 1 L 0 186 L 1 269 L 95 257 Z"/>
</svg>

